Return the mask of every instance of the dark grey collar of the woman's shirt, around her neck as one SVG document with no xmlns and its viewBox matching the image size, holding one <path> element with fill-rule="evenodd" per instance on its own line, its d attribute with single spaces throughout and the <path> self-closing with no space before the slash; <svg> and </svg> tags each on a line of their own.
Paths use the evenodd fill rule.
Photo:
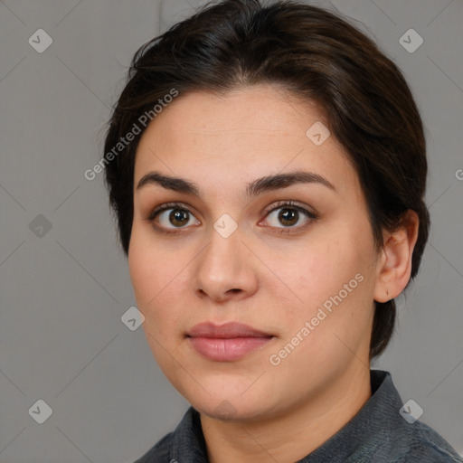
<svg viewBox="0 0 463 463">
<path fill-rule="evenodd" d="M 363 455 L 372 448 L 384 429 L 403 426 L 399 409 L 402 400 L 392 383 L 391 374 L 381 370 L 370 371 L 372 396 L 345 426 L 327 439 L 320 447 L 302 458 L 300 463 L 345 462 L 358 453 Z M 190 407 L 174 431 L 169 458 L 182 463 L 207 463 L 207 450 L 199 412 Z"/>
</svg>

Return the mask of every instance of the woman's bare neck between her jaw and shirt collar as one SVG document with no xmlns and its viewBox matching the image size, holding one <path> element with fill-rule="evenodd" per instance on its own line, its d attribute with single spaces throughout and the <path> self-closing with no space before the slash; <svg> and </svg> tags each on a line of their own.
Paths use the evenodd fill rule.
<svg viewBox="0 0 463 463">
<path fill-rule="evenodd" d="M 222 421 L 201 414 L 210 463 L 293 463 L 306 457 L 341 430 L 371 397 L 370 370 L 357 362 L 322 389 L 272 419 Z"/>
</svg>

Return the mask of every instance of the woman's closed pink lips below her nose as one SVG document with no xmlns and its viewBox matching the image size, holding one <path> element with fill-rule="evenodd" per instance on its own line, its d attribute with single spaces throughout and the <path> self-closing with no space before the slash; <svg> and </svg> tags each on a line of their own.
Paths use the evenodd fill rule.
<svg viewBox="0 0 463 463">
<path fill-rule="evenodd" d="M 187 338 L 194 350 L 216 362 L 233 362 L 275 338 L 252 326 L 229 322 L 221 326 L 207 322 L 195 325 Z"/>
</svg>

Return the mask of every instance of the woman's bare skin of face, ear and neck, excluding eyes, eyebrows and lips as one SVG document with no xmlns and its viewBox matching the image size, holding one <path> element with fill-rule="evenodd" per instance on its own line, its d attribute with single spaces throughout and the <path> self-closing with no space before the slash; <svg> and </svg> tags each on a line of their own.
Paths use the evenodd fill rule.
<svg viewBox="0 0 463 463">
<path fill-rule="evenodd" d="M 156 362 L 200 411 L 213 463 L 293 462 L 340 430 L 371 395 L 373 301 L 395 298 L 410 279 L 416 213 L 402 229 L 384 232 L 377 253 L 343 147 L 333 135 L 321 146 L 306 136 L 317 121 L 324 117 L 315 105 L 276 85 L 224 97 L 187 93 L 157 115 L 137 147 L 130 278 Z M 293 184 L 246 197 L 248 182 L 296 169 L 323 175 L 336 191 Z M 150 171 L 193 181 L 202 195 L 156 184 L 137 190 Z M 285 226 L 279 220 L 285 206 L 266 215 L 272 204 L 290 200 L 317 219 L 296 212 Z M 172 210 L 149 222 L 168 202 L 192 214 L 184 224 L 169 222 Z M 213 228 L 224 213 L 238 226 L 228 238 Z M 168 235 L 156 225 L 183 230 Z M 357 274 L 363 280 L 356 288 L 278 365 L 270 364 L 269 356 Z M 275 337 L 240 360 L 212 361 L 185 336 L 204 321 L 239 321 Z"/>
</svg>

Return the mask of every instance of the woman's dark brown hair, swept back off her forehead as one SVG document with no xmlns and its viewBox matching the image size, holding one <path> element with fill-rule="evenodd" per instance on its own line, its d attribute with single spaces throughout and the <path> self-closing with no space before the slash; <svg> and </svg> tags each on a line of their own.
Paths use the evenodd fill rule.
<svg viewBox="0 0 463 463">
<path fill-rule="evenodd" d="M 411 90 L 402 72 L 364 33 L 339 15 L 296 1 L 267 6 L 259 0 L 209 2 L 137 50 L 104 146 L 107 155 L 113 153 L 105 159 L 105 182 L 126 255 L 135 155 L 143 130 L 127 146 L 118 146 L 121 138 L 139 127 L 146 111 L 153 114 L 156 103 L 173 89 L 181 98 L 194 90 L 223 95 L 259 83 L 279 84 L 324 111 L 331 134 L 345 147 L 359 176 L 378 250 L 383 230 L 396 230 L 408 209 L 418 213 L 414 278 L 430 216 L 424 203 L 426 141 Z M 116 155 L 115 146 L 120 151 Z M 393 299 L 375 301 L 370 358 L 388 344 L 395 316 Z"/>
</svg>

